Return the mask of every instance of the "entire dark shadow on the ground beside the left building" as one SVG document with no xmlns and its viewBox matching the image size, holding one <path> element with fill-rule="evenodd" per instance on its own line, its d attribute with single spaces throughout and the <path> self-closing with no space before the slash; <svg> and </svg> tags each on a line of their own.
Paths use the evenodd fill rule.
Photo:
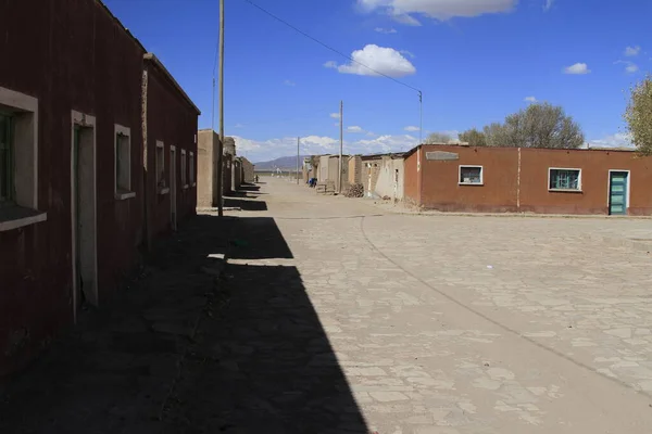
<svg viewBox="0 0 652 434">
<path fill-rule="evenodd" d="M 156 247 L 0 390 L 0 433 L 368 432 L 297 268 L 269 264 L 292 258 L 272 218 L 199 216 Z"/>
</svg>

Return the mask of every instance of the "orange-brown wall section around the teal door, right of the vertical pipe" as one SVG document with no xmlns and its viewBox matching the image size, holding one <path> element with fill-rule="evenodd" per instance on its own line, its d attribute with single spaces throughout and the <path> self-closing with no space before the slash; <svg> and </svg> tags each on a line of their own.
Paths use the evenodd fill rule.
<svg viewBox="0 0 652 434">
<path fill-rule="evenodd" d="M 522 149 L 521 210 L 609 214 L 609 170 L 630 173 L 630 215 L 652 215 L 652 159 L 629 151 Z M 581 169 L 581 192 L 548 190 L 550 167 Z"/>
</svg>

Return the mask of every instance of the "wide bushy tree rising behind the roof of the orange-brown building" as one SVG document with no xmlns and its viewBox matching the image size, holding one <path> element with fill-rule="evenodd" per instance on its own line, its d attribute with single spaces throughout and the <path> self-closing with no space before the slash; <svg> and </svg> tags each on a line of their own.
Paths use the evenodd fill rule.
<svg viewBox="0 0 652 434">
<path fill-rule="evenodd" d="M 530 104 L 504 124 L 485 127 L 485 136 L 490 146 L 577 149 L 585 143 L 579 125 L 549 103 Z"/>
</svg>

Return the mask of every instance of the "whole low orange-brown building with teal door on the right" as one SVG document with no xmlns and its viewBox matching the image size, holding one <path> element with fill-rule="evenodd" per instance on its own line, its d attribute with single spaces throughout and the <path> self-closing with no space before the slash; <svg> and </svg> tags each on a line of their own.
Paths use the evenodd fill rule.
<svg viewBox="0 0 652 434">
<path fill-rule="evenodd" d="M 418 145 L 404 201 L 442 212 L 652 215 L 652 158 L 631 150 Z"/>
</svg>

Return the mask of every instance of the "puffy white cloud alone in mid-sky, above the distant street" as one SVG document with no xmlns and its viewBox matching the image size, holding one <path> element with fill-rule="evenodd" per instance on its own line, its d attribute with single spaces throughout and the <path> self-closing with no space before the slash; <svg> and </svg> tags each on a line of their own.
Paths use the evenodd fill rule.
<svg viewBox="0 0 652 434">
<path fill-rule="evenodd" d="M 365 76 L 378 76 L 380 73 L 390 77 L 404 77 L 416 73 L 412 62 L 393 48 L 368 44 L 362 50 L 353 51 L 351 58 L 360 63 L 351 62 L 347 65 L 339 65 L 337 71 L 341 74 Z M 368 67 L 362 66 L 361 63 Z"/>
</svg>

